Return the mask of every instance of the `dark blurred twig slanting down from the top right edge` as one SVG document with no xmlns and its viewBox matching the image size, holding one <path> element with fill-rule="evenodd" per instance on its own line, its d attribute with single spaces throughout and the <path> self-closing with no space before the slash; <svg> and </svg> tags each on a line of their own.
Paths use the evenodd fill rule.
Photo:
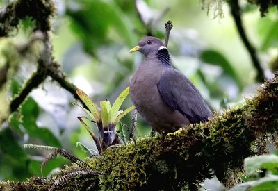
<svg viewBox="0 0 278 191">
<path fill-rule="evenodd" d="M 234 17 L 234 21 L 236 23 L 236 28 L 238 29 L 238 33 L 240 35 L 241 40 L 243 40 L 243 44 L 245 45 L 247 51 L 250 54 L 252 59 L 252 63 L 256 69 L 256 81 L 264 81 L 264 72 L 261 64 L 259 63 L 259 58 L 256 53 L 256 49 L 252 46 L 250 41 L 247 38 L 245 30 L 243 28 L 243 23 L 240 17 L 240 6 L 238 0 L 229 0 L 229 6 L 231 8 L 231 15 Z"/>
</svg>

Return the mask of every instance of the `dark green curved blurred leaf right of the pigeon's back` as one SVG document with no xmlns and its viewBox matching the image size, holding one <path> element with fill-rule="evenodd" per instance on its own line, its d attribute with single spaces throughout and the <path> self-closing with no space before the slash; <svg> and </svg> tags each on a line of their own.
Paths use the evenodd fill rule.
<svg viewBox="0 0 278 191">
<path fill-rule="evenodd" d="M 222 53 L 213 49 L 206 49 L 200 53 L 199 58 L 204 63 L 219 65 L 220 67 L 222 67 L 224 74 L 233 78 L 240 90 L 243 89 L 243 84 L 241 83 L 240 78 L 238 78 L 238 75 L 234 71 L 231 63 L 229 63 L 229 60 L 227 60 L 227 58 L 225 58 Z"/>
</svg>

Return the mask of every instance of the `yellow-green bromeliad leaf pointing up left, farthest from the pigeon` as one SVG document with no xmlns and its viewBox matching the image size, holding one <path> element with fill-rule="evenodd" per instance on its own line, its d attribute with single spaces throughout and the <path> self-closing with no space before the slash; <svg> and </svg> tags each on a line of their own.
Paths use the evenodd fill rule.
<svg viewBox="0 0 278 191">
<path fill-rule="evenodd" d="M 99 112 L 99 109 L 95 105 L 95 103 L 92 102 L 90 97 L 88 97 L 88 95 L 85 94 L 85 92 L 83 92 L 79 88 L 76 89 L 76 93 L 78 94 L 80 99 L 83 101 L 83 103 L 85 103 L 85 105 L 89 108 L 90 112 L 94 116 L 93 119 L 95 119 L 95 122 L 100 122 L 101 121 L 101 114 Z"/>
</svg>

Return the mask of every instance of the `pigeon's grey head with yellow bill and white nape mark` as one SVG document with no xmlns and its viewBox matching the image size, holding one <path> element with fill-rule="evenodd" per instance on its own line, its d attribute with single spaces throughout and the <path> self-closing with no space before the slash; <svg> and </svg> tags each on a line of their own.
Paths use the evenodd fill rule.
<svg viewBox="0 0 278 191">
<path fill-rule="evenodd" d="M 161 49 L 166 49 L 161 40 L 152 36 L 147 36 L 142 38 L 138 42 L 138 46 L 134 47 L 129 52 L 140 51 L 140 53 L 147 57 L 150 53 L 157 53 Z"/>
</svg>

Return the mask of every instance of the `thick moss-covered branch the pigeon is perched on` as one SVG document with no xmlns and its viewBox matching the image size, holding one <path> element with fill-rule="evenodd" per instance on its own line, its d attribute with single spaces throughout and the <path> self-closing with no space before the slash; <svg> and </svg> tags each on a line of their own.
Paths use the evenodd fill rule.
<svg viewBox="0 0 278 191">
<path fill-rule="evenodd" d="M 85 163 L 99 172 L 101 190 L 197 190 L 204 178 L 213 176 L 211 169 L 230 188 L 236 183 L 235 175 L 243 172 L 243 159 L 267 150 L 266 143 L 260 141 L 262 137 L 277 146 L 277 132 L 278 73 L 261 86 L 254 98 L 215 114 L 204 124 L 154 138 L 138 138 L 136 144 L 108 149 Z M 27 183 L 1 183 L 0 188 L 28 185 L 29 189 L 47 190 L 71 168 L 75 166 L 47 181 L 31 178 Z M 72 177 L 63 190 L 72 190 L 76 181 L 80 190 L 92 183 L 90 177 Z"/>
</svg>

